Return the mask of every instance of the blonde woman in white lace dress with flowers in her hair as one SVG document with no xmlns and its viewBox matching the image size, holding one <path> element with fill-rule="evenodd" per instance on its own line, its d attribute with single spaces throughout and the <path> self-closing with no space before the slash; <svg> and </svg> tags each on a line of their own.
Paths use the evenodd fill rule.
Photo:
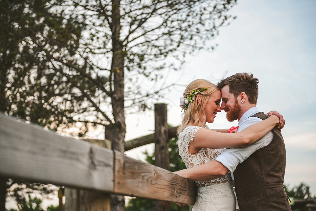
<svg viewBox="0 0 316 211">
<path fill-rule="evenodd" d="M 210 130 L 205 124 L 212 123 L 216 113 L 221 112 L 221 91 L 216 85 L 203 79 L 192 81 L 180 100 L 184 114 L 178 128 L 178 146 L 187 168 L 215 160 L 224 148 L 246 147 L 257 142 L 280 121 L 278 117 L 271 115 L 239 133 L 227 133 L 227 129 Z M 236 210 L 230 173 L 207 182 L 196 181 L 196 185 L 197 198 L 192 211 Z"/>
</svg>

